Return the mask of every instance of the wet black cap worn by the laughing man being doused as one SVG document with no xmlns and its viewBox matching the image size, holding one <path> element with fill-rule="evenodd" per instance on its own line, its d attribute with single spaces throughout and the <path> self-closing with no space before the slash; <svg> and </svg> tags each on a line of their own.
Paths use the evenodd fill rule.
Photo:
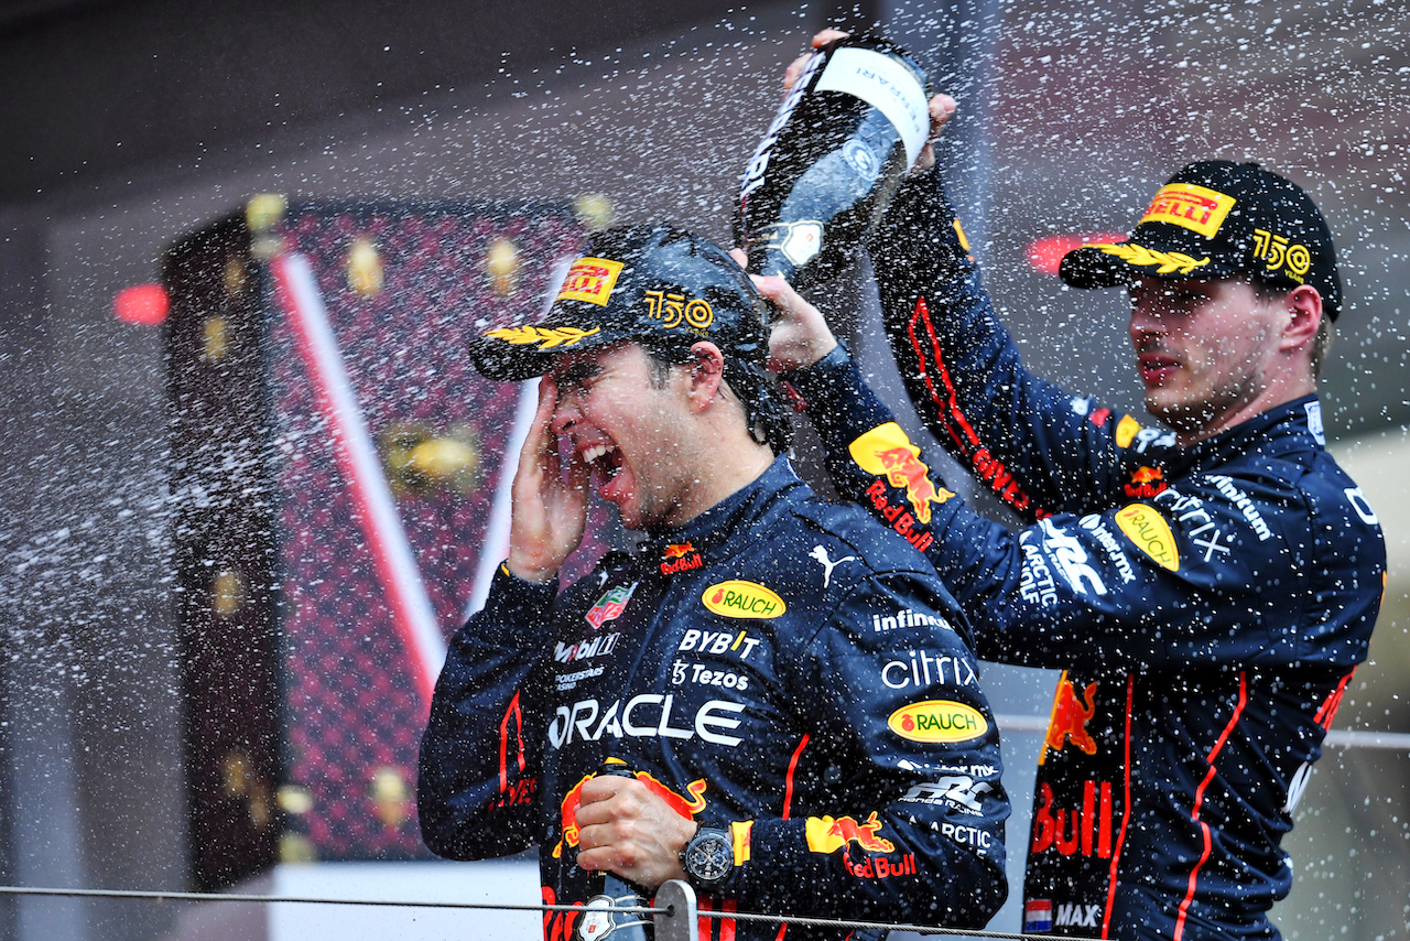
<svg viewBox="0 0 1410 941">
<path fill-rule="evenodd" d="M 595 233 L 547 315 L 471 340 L 475 368 L 501 381 L 548 371 L 554 356 L 630 340 L 668 351 L 709 340 L 763 368 L 768 302 L 729 254 L 675 226 Z"/>
</svg>

